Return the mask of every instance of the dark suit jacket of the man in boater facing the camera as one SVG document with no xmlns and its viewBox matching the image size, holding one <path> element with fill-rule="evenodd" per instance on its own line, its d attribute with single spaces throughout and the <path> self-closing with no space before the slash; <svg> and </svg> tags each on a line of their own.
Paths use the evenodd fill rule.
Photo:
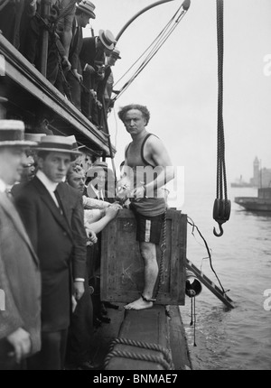
<svg viewBox="0 0 271 388">
<path fill-rule="evenodd" d="M 31 238 L 42 270 L 42 330 L 69 327 L 73 279 L 84 278 L 86 233 L 77 190 L 58 186 L 63 215 L 41 180 L 34 178 L 16 195 L 16 205 Z"/>
</svg>

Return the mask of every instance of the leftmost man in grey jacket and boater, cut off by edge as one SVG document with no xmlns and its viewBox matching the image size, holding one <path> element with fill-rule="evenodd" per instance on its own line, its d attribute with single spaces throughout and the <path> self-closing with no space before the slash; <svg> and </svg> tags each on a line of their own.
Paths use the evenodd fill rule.
<svg viewBox="0 0 271 388">
<path fill-rule="evenodd" d="M 0 370 L 24 368 L 41 349 L 41 273 L 22 220 L 7 194 L 20 180 L 24 140 L 21 121 L 0 120 Z"/>
</svg>

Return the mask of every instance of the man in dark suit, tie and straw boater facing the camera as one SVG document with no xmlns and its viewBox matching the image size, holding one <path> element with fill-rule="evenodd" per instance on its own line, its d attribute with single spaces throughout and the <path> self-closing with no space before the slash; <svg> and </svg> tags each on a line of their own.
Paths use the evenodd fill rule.
<svg viewBox="0 0 271 388">
<path fill-rule="evenodd" d="M 42 351 L 28 366 L 61 370 L 71 300 L 79 300 L 84 293 L 86 269 L 81 196 L 63 181 L 79 152 L 69 138 L 55 135 L 42 137 L 37 151 L 36 176 L 15 197 L 42 270 Z"/>
</svg>

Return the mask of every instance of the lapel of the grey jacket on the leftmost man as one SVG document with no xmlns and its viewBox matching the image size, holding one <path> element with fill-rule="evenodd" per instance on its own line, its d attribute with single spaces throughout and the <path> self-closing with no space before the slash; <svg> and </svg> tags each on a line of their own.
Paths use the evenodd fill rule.
<svg viewBox="0 0 271 388">
<path fill-rule="evenodd" d="M 21 217 L 19 216 L 16 208 L 14 208 L 14 204 L 10 199 L 7 199 L 5 194 L 0 193 L 0 205 L 2 205 L 6 216 L 12 220 L 14 227 L 16 228 L 19 235 L 23 237 L 23 240 L 29 246 L 31 253 L 33 254 L 34 261 L 37 263 L 37 265 L 39 265 L 39 259 L 33 250 L 33 245 L 31 244 L 29 236 L 25 231 Z"/>
</svg>

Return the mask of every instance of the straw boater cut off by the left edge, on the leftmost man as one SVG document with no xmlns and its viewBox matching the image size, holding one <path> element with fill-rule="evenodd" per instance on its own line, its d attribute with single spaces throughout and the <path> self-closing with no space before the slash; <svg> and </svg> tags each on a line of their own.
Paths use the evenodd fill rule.
<svg viewBox="0 0 271 388">
<path fill-rule="evenodd" d="M 0 120 L 0 148 L 22 147 L 28 148 L 37 145 L 37 142 L 25 140 L 24 124 L 19 120 Z"/>
</svg>

